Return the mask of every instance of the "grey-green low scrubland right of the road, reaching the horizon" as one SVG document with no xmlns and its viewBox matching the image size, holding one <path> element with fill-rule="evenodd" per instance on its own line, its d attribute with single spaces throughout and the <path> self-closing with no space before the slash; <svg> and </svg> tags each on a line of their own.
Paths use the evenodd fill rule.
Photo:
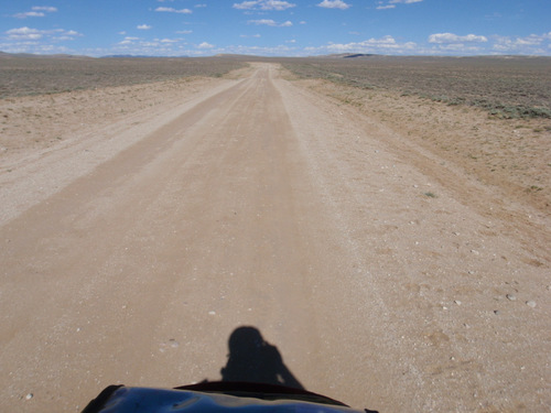
<svg viewBox="0 0 551 413">
<path fill-rule="evenodd" d="M 497 118 L 551 118 L 549 57 L 296 58 L 284 66 L 301 78 L 477 107 Z"/>
</svg>

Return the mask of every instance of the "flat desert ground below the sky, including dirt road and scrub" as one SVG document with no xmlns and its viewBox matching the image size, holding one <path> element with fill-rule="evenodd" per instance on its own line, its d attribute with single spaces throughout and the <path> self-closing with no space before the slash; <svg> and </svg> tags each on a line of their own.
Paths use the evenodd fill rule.
<svg viewBox="0 0 551 413">
<path fill-rule="evenodd" d="M 356 409 L 549 411 L 550 68 L 1 55 L 0 410 L 220 380 L 253 326 Z"/>
</svg>

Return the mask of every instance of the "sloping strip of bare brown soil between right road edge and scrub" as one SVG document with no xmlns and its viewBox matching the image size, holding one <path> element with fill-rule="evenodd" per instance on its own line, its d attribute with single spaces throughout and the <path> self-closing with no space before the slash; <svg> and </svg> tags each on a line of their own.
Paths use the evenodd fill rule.
<svg viewBox="0 0 551 413">
<path fill-rule="evenodd" d="M 507 200 L 514 198 L 550 213 L 551 120 L 498 119 L 485 110 L 398 93 L 318 80 L 302 84 L 354 106 L 473 178 L 498 187 Z"/>
</svg>

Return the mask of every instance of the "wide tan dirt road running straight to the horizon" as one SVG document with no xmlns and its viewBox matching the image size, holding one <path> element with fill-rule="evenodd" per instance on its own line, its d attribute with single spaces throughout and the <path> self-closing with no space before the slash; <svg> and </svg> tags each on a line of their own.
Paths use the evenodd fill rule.
<svg viewBox="0 0 551 413">
<path fill-rule="evenodd" d="M 1 411 L 219 380 L 239 326 L 355 407 L 549 411 L 548 217 L 276 65 L 155 110 L 2 169 Z"/>
</svg>

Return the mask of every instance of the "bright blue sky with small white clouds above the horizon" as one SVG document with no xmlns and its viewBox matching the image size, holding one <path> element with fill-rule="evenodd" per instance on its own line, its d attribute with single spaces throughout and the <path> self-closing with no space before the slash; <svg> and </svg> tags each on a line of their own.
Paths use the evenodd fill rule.
<svg viewBox="0 0 551 413">
<path fill-rule="evenodd" d="M 0 0 L 0 51 L 551 55 L 551 0 Z"/>
</svg>

